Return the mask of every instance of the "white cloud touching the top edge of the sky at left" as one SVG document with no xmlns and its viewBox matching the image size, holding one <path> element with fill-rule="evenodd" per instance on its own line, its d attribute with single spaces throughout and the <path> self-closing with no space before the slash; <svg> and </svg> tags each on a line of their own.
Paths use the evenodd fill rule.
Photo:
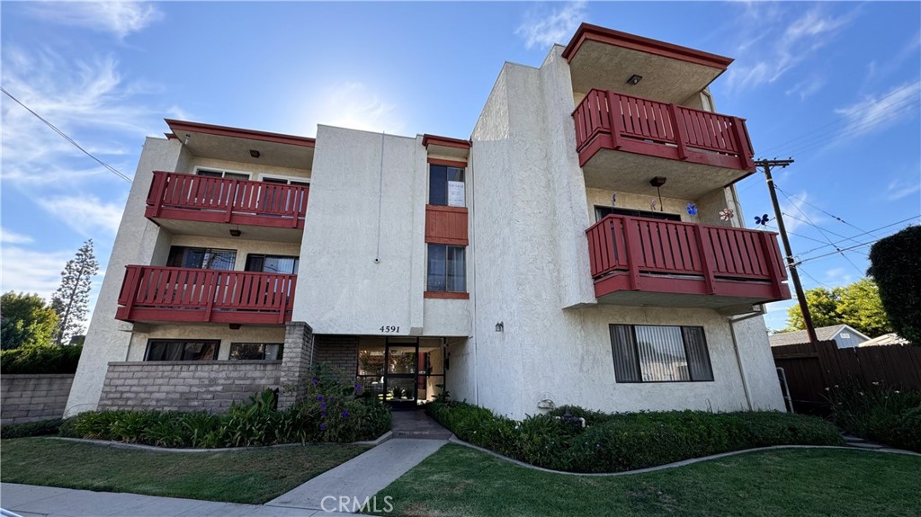
<svg viewBox="0 0 921 517">
<path fill-rule="evenodd" d="M 111 32 L 123 39 L 163 19 L 156 6 L 147 2 L 41 2 L 31 6 L 31 15 L 44 21 Z"/>
</svg>

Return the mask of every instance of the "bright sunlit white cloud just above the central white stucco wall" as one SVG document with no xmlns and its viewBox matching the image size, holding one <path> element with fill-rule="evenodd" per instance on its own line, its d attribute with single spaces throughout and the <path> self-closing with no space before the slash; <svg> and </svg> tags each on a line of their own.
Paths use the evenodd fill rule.
<svg viewBox="0 0 921 517">
<path fill-rule="evenodd" d="M 318 123 L 349 129 L 401 134 L 406 127 L 397 105 L 382 99 L 363 83 L 329 86 L 315 97 L 302 118 L 305 134 L 313 134 Z"/>
</svg>

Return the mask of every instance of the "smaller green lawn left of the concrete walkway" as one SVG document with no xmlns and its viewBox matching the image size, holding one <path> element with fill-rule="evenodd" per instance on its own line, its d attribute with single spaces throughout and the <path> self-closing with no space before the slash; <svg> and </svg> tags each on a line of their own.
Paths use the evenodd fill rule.
<svg viewBox="0 0 921 517">
<path fill-rule="evenodd" d="M 357 445 L 321 443 L 221 453 L 161 453 L 19 438 L 0 442 L 0 480 L 262 503 L 366 450 Z"/>
</svg>

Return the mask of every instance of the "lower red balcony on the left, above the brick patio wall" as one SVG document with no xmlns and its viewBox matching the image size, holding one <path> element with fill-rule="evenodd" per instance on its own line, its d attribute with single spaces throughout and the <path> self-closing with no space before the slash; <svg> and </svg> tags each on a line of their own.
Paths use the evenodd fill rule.
<svg viewBox="0 0 921 517">
<path fill-rule="evenodd" d="M 291 321 L 297 275 L 127 266 L 115 319 L 276 325 Z"/>
</svg>

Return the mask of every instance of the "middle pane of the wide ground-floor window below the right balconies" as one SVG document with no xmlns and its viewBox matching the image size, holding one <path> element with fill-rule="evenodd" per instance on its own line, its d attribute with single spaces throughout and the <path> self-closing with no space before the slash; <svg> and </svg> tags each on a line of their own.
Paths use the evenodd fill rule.
<svg viewBox="0 0 921 517">
<path fill-rule="evenodd" d="M 636 326 L 636 352 L 644 381 L 690 381 L 681 327 Z"/>
</svg>

